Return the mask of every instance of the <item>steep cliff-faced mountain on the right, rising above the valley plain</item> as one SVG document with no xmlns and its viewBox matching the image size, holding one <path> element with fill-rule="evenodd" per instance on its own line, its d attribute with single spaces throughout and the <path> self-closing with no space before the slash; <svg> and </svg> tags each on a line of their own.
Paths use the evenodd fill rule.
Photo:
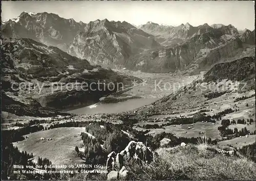
<svg viewBox="0 0 256 181">
<path fill-rule="evenodd" d="M 216 63 L 232 61 L 255 54 L 254 31 L 242 35 L 225 34 L 226 27 L 196 34 L 182 44 L 145 52 L 133 57 L 127 65 L 145 72 L 177 72 L 198 74 Z"/>
</svg>

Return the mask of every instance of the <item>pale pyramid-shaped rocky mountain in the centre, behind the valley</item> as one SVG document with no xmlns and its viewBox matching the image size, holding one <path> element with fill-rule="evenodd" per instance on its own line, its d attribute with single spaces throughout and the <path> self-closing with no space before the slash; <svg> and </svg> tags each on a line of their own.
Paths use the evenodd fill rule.
<svg viewBox="0 0 256 181">
<path fill-rule="evenodd" d="M 91 21 L 70 44 L 68 53 L 90 62 L 124 65 L 131 55 L 161 47 L 153 35 L 126 21 Z"/>
</svg>

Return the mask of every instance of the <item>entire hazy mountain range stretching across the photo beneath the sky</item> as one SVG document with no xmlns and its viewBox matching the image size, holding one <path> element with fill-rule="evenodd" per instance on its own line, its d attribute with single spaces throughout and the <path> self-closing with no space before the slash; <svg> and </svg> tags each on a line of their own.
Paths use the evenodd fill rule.
<svg viewBox="0 0 256 181">
<path fill-rule="evenodd" d="M 216 63 L 254 55 L 255 30 L 232 25 L 178 27 L 95 20 L 84 24 L 53 13 L 27 13 L 4 21 L 6 37 L 31 38 L 90 63 L 143 72 L 195 74 Z"/>
</svg>

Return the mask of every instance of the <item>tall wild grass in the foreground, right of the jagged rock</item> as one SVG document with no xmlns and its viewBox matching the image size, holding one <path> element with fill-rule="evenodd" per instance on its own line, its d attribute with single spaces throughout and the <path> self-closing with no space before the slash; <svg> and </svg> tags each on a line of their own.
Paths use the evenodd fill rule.
<svg viewBox="0 0 256 181">
<path fill-rule="evenodd" d="M 208 150 L 212 146 L 187 145 L 160 148 L 149 165 L 129 163 L 129 180 L 254 180 L 256 165 L 245 157 L 225 156 Z"/>
</svg>

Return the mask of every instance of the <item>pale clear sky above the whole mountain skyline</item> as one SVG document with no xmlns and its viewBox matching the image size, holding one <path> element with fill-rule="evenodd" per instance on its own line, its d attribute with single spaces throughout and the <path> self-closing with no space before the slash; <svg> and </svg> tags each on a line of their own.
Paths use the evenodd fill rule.
<svg viewBox="0 0 256 181">
<path fill-rule="evenodd" d="M 88 23 L 96 19 L 127 21 L 134 25 L 192 26 L 207 23 L 254 30 L 253 1 L 2 1 L 2 20 L 23 11 L 49 12 Z"/>
</svg>

